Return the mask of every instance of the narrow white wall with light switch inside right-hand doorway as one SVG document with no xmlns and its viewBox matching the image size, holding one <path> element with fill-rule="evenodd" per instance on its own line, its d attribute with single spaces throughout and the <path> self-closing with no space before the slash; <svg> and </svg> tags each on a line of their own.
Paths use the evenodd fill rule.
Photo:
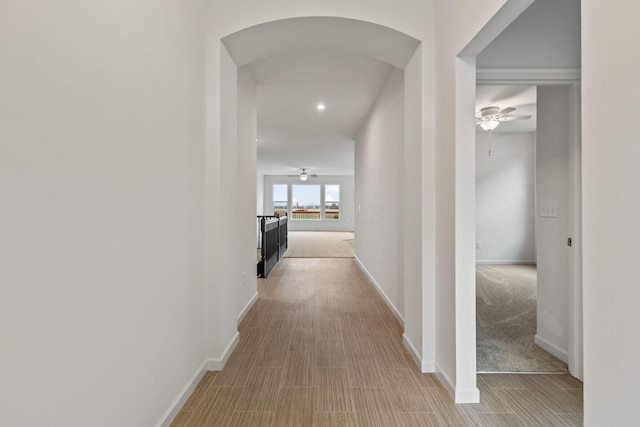
<svg viewBox="0 0 640 427">
<path fill-rule="evenodd" d="M 538 87 L 536 135 L 536 247 L 538 258 L 536 343 L 568 361 L 571 91 Z M 557 203 L 557 217 L 541 216 L 544 203 Z"/>
</svg>

